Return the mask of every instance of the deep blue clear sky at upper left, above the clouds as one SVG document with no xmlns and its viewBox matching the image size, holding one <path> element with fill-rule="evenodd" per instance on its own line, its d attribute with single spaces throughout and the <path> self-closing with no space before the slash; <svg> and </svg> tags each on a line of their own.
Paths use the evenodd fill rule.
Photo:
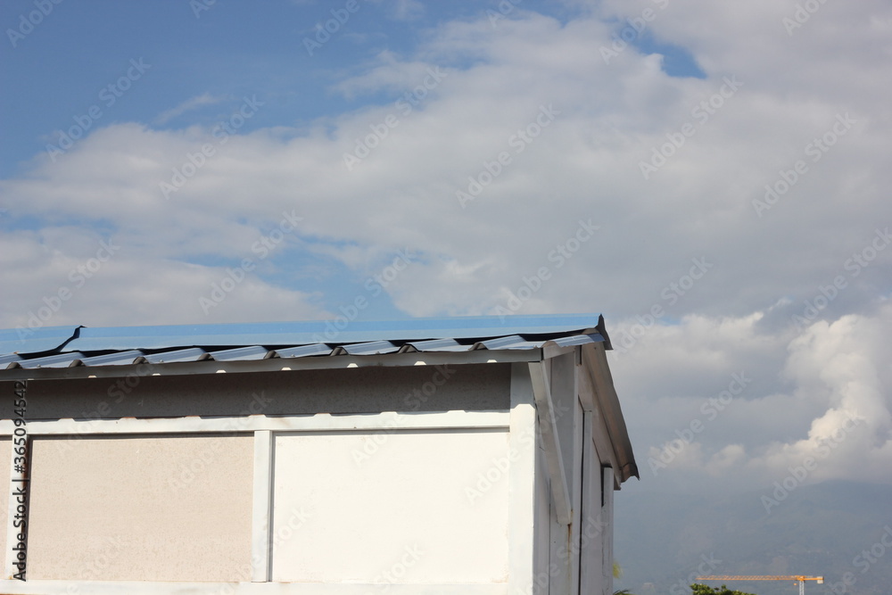
<svg viewBox="0 0 892 595">
<path fill-rule="evenodd" d="M 391 103 L 395 95 L 386 92 L 348 98 L 331 87 L 368 68 L 378 54 L 412 54 L 425 33 L 444 21 L 485 18 L 485 10 L 499 11 L 498 5 L 484 9 L 474 2 L 423 9 L 410 3 L 358 2 L 358 10 L 346 12 L 350 18 L 343 25 L 338 23 L 335 33 L 317 47 L 318 25 L 334 18 L 333 10 L 346 10 L 341 4 L 50 5 L 52 12 L 30 31 L 28 25 L 22 26 L 21 17 L 37 10 L 33 2 L 7 2 L 0 7 L 0 18 L 14 31 L 7 30 L 4 36 L 8 41 L 3 48 L 4 79 L 18 81 L 7 87 L 15 88 L 15 93 L 6 93 L 0 100 L 6 139 L 0 155 L 4 176 L 21 172 L 23 164 L 45 150 L 57 131 L 76 125 L 75 118 L 94 105 L 103 112 L 92 124 L 96 128 L 140 122 L 176 129 L 211 125 L 244 95 L 256 95 L 265 105 L 240 130 L 250 132 L 273 126 L 300 128 L 368 104 Z M 523 8 L 559 21 L 578 12 L 555 3 L 529 1 Z M 620 19 L 612 25 L 617 34 L 628 28 Z M 21 31 L 29 33 L 16 35 Z M 655 42 L 649 31 L 634 37 L 632 44 L 665 54 L 665 70 L 674 76 L 701 74 L 683 48 Z M 114 90 L 103 94 L 103 89 L 126 75 L 134 59 L 151 67 L 145 70 L 145 79 L 140 77 L 120 91 L 120 97 Z M 207 103 L 162 117 L 202 96 Z M 109 105 L 109 97 L 117 101 Z"/>
</svg>

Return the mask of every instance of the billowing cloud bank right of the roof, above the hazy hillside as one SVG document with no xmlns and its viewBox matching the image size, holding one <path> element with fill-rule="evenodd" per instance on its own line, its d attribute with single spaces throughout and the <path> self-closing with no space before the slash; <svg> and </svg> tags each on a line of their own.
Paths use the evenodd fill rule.
<svg viewBox="0 0 892 595">
<path fill-rule="evenodd" d="M 797 483 L 884 477 L 892 307 L 801 334 L 759 326 L 761 318 L 655 326 L 612 355 L 642 470 L 670 484 L 720 479 L 744 489 L 800 467 L 808 473 Z"/>
</svg>

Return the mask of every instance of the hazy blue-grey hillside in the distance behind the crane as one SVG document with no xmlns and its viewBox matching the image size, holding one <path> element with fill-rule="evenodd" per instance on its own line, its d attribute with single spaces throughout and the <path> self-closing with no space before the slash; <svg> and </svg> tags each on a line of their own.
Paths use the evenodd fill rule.
<svg viewBox="0 0 892 595">
<path fill-rule="evenodd" d="M 799 487 L 766 514 L 764 492 L 708 497 L 620 492 L 616 589 L 636 595 L 690 595 L 689 577 L 705 574 L 823 575 L 806 595 L 892 592 L 892 486 L 826 482 Z M 863 555 L 863 551 L 867 555 Z M 872 551 L 871 551 L 872 550 Z M 699 568 L 698 568 L 699 566 Z M 719 586 L 720 583 L 707 583 Z M 758 595 L 798 595 L 793 583 L 735 582 Z"/>
</svg>

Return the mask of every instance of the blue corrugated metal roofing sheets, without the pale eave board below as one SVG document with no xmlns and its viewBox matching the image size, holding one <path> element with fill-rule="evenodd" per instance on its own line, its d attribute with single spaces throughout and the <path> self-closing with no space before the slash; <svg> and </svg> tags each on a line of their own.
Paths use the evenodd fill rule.
<svg viewBox="0 0 892 595">
<path fill-rule="evenodd" d="M 247 361 L 407 351 L 529 350 L 610 341 L 599 314 L 0 330 L 0 369 Z"/>
</svg>

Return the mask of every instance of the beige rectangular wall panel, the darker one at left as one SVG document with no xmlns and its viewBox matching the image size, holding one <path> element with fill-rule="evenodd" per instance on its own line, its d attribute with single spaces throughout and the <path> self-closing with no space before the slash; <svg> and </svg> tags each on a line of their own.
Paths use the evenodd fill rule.
<svg viewBox="0 0 892 595">
<path fill-rule="evenodd" d="M 252 436 L 33 444 L 29 579 L 250 577 Z"/>
</svg>

